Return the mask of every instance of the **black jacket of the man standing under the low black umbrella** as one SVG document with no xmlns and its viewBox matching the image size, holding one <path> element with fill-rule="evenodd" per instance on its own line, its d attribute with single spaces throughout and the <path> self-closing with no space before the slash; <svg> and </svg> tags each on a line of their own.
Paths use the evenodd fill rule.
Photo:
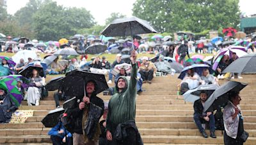
<svg viewBox="0 0 256 145">
<path fill-rule="evenodd" d="M 70 109 L 67 113 L 69 116 L 72 116 L 72 120 L 74 121 L 74 132 L 77 134 L 83 134 L 83 128 L 82 128 L 82 123 L 83 123 L 83 110 L 79 109 L 79 103 L 83 101 L 83 97 L 77 98 L 77 107 Z M 92 95 L 90 97 L 90 102 L 95 104 L 96 106 L 99 106 L 102 108 L 102 114 L 104 113 L 104 102 L 102 99 L 97 97 L 96 95 Z"/>
</svg>

